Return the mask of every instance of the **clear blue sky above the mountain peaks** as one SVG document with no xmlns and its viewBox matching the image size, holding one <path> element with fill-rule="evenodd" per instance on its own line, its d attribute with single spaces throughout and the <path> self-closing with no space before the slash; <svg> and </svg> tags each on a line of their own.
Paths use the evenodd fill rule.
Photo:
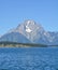
<svg viewBox="0 0 58 70">
<path fill-rule="evenodd" d="M 58 0 L 0 0 L 0 34 L 26 19 L 41 24 L 46 31 L 58 31 Z"/>
</svg>

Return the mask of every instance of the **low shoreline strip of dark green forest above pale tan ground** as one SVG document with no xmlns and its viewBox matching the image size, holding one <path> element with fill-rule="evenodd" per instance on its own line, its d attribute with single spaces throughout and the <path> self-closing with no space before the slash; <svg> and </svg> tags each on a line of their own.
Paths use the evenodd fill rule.
<svg viewBox="0 0 58 70">
<path fill-rule="evenodd" d="M 0 42 L 0 47 L 46 47 L 45 44 L 35 43 L 17 43 L 17 42 Z"/>
</svg>

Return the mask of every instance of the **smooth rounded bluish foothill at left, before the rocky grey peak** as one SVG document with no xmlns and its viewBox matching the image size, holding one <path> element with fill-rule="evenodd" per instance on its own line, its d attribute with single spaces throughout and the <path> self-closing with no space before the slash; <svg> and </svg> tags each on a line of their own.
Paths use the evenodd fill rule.
<svg viewBox="0 0 58 70">
<path fill-rule="evenodd" d="M 18 32 L 11 32 L 2 36 L 0 38 L 0 42 L 9 41 L 9 42 L 17 42 L 17 43 L 30 43 L 30 41 Z"/>
</svg>

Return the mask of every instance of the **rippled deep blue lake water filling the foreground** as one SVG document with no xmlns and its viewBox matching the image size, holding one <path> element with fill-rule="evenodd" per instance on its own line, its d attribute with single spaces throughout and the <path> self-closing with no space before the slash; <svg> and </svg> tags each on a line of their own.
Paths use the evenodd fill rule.
<svg viewBox="0 0 58 70">
<path fill-rule="evenodd" d="M 58 47 L 0 48 L 0 70 L 58 70 Z"/>
</svg>

